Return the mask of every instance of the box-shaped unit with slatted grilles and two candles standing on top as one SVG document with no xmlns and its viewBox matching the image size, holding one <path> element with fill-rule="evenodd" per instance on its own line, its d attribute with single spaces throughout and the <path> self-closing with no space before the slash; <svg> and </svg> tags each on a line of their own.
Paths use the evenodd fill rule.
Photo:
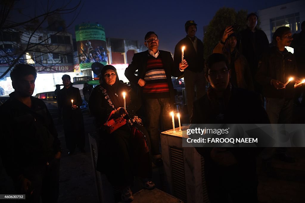
<svg viewBox="0 0 305 203">
<path fill-rule="evenodd" d="M 209 203 L 204 159 L 195 148 L 182 147 L 179 128 L 162 132 L 161 146 L 168 193 L 187 203 Z"/>
</svg>

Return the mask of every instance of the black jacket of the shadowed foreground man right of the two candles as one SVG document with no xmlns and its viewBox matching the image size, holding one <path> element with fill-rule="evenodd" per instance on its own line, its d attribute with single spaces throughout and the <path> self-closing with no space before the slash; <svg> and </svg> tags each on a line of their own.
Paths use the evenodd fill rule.
<svg viewBox="0 0 305 203">
<path fill-rule="evenodd" d="M 226 105 L 227 108 L 225 108 L 223 112 L 222 123 L 269 124 L 268 115 L 260 104 L 261 101 L 258 94 L 232 86 L 231 96 L 228 100 L 228 105 Z M 216 119 L 217 115 L 212 109 L 208 94 L 199 98 L 193 104 L 191 123 L 219 123 Z M 212 149 L 213 148 L 210 147 L 196 147 L 198 153 L 204 157 L 207 187 L 210 187 L 211 182 L 217 180 L 218 177 L 220 179 L 223 178 L 222 176 L 226 174 L 224 173 L 225 171 L 230 172 L 236 180 L 241 178 L 247 180 L 250 185 L 257 184 L 256 156 L 260 153 L 262 148 L 226 148 L 228 151 L 231 151 L 238 161 L 235 166 L 229 167 L 218 166 L 218 164 L 212 160 L 210 155 Z"/>
</svg>

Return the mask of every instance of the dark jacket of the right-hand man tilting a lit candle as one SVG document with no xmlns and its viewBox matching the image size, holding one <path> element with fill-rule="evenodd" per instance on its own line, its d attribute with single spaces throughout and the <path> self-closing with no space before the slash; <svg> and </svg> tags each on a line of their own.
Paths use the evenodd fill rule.
<svg viewBox="0 0 305 203">
<path fill-rule="evenodd" d="M 271 85 L 271 79 L 286 83 L 289 77 L 297 77 L 297 67 L 295 57 L 285 49 L 282 54 L 277 47 L 272 47 L 265 52 L 259 62 L 256 79 L 263 86 L 263 94 L 269 98 L 294 97 L 294 82 L 291 81 L 285 89 L 276 89 Z"/>
</svg>

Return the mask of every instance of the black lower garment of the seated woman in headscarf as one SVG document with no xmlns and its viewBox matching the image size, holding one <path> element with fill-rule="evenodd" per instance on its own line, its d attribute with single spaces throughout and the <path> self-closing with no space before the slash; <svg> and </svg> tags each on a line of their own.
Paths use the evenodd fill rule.
<svg viewBox="0 0 305 203">
<path fill-rule="evenodd" d="M 127 124 L 111 134 L 101 135 L 96 168 L 105 173 L 109 182 L 118 188 L 133 185 L 134 176 L 152 176 L 148 144 L 145 142 L 148 135 L 143 126 L 137 128 L 141 131 L 137 138 L 132 135 Z"/>
</svg>

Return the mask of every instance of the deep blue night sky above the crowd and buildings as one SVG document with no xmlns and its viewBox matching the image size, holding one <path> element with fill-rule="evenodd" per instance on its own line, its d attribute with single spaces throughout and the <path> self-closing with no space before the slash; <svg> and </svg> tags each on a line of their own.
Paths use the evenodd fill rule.
<svg viewBox="0 0 305 203">
<path fill-rule="evenodd" d="M 82 22 L 102 24 L 106 37 L 126 38 L 144 42 L 148 31 L 155 31 L 160 39 L 161 50 L 174 51 L 179 40 L 185 37 L 184 24 L 187 20 L 195 20 L 198 24 L 196 36 L 202 40 L 203 26 L 208 25 L 216 11 L 225 6 L 235 10 L 247 9 L 256 12 L 275 5 L 292 2 L 293 0 L 234 0 L 234 1 L 193 1 L 193 0 L 85 0 L 82 1 L 81 13 L 70 27 L 74 35 L 74 25 Z M 42 0 L 47 2 L 47 0 Z M 68 1 L 55 0 L 56 4 Z M 77 0 L 73 0 L 75 4 Z M 41 5 L 37 5 L 41 7 Z M 72 15 L 64 16 L 67 24 Z"/>
</svg>

